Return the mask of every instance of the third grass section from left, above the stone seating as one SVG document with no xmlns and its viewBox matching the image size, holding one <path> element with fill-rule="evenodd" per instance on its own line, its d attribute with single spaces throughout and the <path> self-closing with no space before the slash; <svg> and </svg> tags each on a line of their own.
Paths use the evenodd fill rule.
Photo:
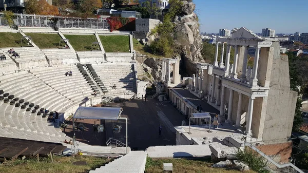
<svg viewBox="0 0 308 173">
<path fill-rule="evenodd" d="M 95 35 L 64 35 L 76 51 L 91 51 L 92 43 L 98 42 Z"/>
</svg>

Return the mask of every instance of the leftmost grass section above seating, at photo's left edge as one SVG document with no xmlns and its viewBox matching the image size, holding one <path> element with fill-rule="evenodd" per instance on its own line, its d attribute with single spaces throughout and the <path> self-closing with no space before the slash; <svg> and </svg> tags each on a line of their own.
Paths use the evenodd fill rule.
<svg viewBox="0 0 308 173">
<path fill-rule="evenodd" d="M 20 33 L 0 32 L 0 47 L 20 47 L 22 37 Z"/>
</svg>

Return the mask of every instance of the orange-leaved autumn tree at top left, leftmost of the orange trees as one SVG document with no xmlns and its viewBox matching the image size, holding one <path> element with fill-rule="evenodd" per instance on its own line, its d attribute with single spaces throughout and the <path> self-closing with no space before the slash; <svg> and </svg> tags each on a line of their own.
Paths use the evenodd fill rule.
<svg viewBox="0 0 308 173">
<path fill-rule="evenodd" d="M 28 14 L 59 15 L 57 7 L 49 5 L 45 0 L 29 0 L 25 6 Z"/>
</svg>

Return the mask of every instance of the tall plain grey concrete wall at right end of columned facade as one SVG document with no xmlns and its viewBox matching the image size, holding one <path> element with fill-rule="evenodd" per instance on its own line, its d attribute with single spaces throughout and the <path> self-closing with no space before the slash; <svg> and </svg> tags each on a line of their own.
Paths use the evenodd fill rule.
<svg viewBox="0 0 308 173">
<path fill-rule="evenodd" d="M 267 98 L 263 141 L 265 144 L 281 143 L 291 138 L 297 92 L 290 90 L 287 55 L 280 55 L 279 43 L 275 49 L 271 82 Z M 279 140 L 279 141 L 277 141 Z"/>
</svg>

